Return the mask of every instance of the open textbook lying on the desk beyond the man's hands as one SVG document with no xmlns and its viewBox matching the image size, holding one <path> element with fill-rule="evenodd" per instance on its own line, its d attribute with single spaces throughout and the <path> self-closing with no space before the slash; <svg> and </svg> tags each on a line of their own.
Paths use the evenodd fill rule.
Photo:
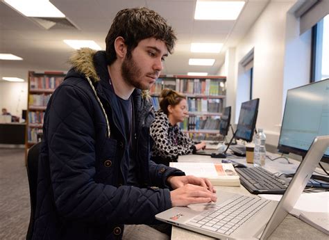
<svg viewBox="0 0 329 240">
<path fill-rule="evenodd" d="M 171 162 L 169 166 L 182 170 L 185 175 L 206 177 L 214 186 L 240 186 L 232 163 Z"/>
</svg>

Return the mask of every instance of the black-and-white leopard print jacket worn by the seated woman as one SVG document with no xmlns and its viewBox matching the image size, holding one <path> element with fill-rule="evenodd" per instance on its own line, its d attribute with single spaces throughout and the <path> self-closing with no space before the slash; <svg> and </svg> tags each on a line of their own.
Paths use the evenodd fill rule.
<svg viewBox="0 0 329 240">
<path fill-rule="evenodd" d="M 155 113 L 150 131 L 154 141 L 152 157 L 177 159 L 179 155 L 191 154 L 195 148 L 192 140 L 183 134 L 178 125 L 170 124 L 162 110 Z"/>
</svg>

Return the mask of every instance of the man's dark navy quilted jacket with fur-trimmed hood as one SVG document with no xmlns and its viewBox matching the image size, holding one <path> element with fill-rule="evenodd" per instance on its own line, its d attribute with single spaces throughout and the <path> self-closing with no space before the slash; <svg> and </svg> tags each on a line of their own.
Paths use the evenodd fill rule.
<svg viewBox="0 0 329 240">
<path fill-rule="evenodd" d="M 44 116 L 33 239 L 120 239 L 124 224 L 154 223 L 155 214 L 171 207 L 166 179 L 184 173 L 149 160 L 154 116 L 135 90 L 138 186 L 127 186 L 128 163 L 121 161 L 127 140 L 105 53 L 82 49 L 71 63 Z"/>
</svg>

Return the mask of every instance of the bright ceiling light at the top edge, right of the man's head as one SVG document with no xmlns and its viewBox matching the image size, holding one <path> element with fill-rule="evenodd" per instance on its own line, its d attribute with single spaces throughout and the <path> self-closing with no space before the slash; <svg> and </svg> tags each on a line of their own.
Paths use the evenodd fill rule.
<svg viewBox="0 0 329 240">
<path fill-rule="evenodd" d="M 244 1 L 196 1 L 196 20 L 235 20 L 239 16 Z"/>
</svg>

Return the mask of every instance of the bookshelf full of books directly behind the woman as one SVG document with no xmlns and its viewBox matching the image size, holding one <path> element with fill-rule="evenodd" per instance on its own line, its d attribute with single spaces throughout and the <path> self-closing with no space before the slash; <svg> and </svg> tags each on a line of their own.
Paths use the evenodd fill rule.
<svg viewBox="0 0 329 240">
<path fill-rule="evenodd" d="M 180 123 L 183 131 L 198 140 L 221 140 L 219 122 L 226 106 L 226 77 L 160 76 L 150 90 L 155 110 L 159 109 L 159 95 L 164 88 L 187 97 L 189 117 Z"/>
</svg>

